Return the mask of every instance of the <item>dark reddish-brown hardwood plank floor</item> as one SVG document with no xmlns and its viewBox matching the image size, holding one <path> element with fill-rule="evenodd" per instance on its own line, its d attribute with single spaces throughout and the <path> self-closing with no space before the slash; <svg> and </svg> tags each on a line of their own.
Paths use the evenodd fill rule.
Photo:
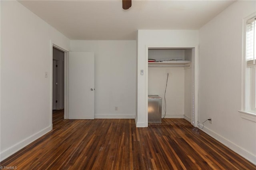
<svg viewBox="0 0 256 170">
<path fill-rule="evenodd" d="M 46 169 L 230 169 L 256 166 L 184 119 L 136 128 L 134 119 L 64 120 L 1 162 L 20 170 Z"/>
</svg>

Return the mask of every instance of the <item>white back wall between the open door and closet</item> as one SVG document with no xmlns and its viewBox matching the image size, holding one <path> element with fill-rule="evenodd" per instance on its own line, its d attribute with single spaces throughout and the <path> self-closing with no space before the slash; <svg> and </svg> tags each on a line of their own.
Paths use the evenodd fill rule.
<svg viewBox="0 0 256 170">
<path fill-rule="evenodd" d="M 71 51 L 95 53 L 95 118 L 134 118 L 136 41 L 71 41 Z"/>
</svg>

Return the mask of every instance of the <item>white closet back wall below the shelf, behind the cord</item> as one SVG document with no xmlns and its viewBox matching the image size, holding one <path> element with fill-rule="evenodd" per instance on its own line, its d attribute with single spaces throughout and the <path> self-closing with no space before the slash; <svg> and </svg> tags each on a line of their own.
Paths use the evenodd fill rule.
<svg viewBox="0 0 256 170">
<path fill-rule="evenodd" d="M 162 115 L 164 115 L 164 91 L 166 79 L 166 117 L 183 118 L 184 115 L 184 68 L 183 67 L 149 67 L 148 95 L 162 97 Z"/>
</svg>

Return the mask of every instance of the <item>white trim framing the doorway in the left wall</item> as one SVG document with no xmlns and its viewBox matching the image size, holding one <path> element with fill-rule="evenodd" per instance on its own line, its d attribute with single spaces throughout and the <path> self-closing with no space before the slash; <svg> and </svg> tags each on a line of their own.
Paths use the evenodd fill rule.
<svg viewBox="0 0 256 170">
<path fill-rule="evenodd" d="M 68 119 L 68 53 L 69 51 L 65 48 L 60 47 L 56 43 L 50 40 L 50 73 L 48 77 L 50 78 L 50 123 L 52 130 L 52 60 L 53 60 L 53 50 L 52 48 L 57 48 L 64 52 L 64 119 Z"/>
</svg>

